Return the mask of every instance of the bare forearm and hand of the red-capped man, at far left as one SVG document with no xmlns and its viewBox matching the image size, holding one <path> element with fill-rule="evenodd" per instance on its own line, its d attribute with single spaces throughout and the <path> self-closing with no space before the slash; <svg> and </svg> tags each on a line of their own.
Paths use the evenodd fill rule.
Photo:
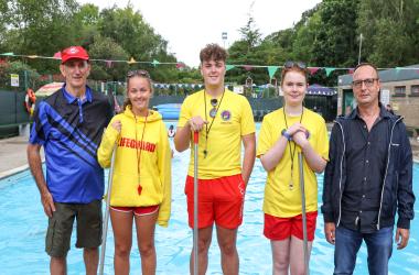
<svg viewBox="0 0 419 275">
<path fill-rule="evenodd" d="M 41 202 L 44 207 L 44 212 L 47 217 L 52 217 L 52 213 L 55 211 L 53 197 L 46 186 L 44 173 L 42 170 L 42 161 L 41 161 L 41 145 L 39 144 L 29 144 L 28 145 L 28 163 L 31 168 L 32 176 L 35 179 L 37 189 L 41 195 Z"/>
</svg>

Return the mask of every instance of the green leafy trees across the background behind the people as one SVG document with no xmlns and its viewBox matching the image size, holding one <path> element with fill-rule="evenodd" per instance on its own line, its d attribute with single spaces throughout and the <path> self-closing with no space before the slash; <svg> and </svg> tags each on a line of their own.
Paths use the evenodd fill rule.
<svg viewBox="0 0 419 275">
<path fill-rule="evenodd" d="M 311 67 L 354 67 L 361 34 L 362 61 L 378 67 L 417 64 L 418 14 L 419 0 L 323 0 L 303 12 L 292 28 L 262 37 L 250 7 L 246 24 L 238 30 L 240 40 L 228 48 L 227 64 L 256 66 L 228 70 L 226 82 L 251 79 L 257 85 L 267 84 L 267 68 L 257 66 L 280 66 L 288 59 L 303 61 Z M 202 81 L 196 68 L 159 65 L 178 61 L 168 52 L 168 42 L 130 3 L 100 11 L 95 4 L 79 6 L 76 0 L 0 1 L 0 53 L 53 56 L 68 45 L 83 45 L 97 59 L 158 61 L 153 65 L 94 62 L 93 79 L 123 81 L 127 70 L 144 68 L 155 82 Z M 4 72 L 4 62 L 1 64 Z M 21 64 L 21 69 L 28 66 L 42 74 L 56 74 L 58 67 L 56 61 L 45 59 L 23 59 Z M 336 76 L 346 73 L 335 70 L 327 76 L 320 69 L 310 76 L 310 82 L 335 86 Z M 280 69 L 273 77 L 279 82 Z"/>
</svg>

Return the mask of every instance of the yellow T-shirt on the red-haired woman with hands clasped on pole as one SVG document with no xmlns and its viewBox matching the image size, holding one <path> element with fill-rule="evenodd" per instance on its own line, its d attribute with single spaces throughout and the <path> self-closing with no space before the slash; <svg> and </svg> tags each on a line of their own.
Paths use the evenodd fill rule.
<svg viewBox="0 0 419 275">
<path fill-rule="evenodd" d="M 281 138 L 281 131 L 287 129 L 283 118 L 283 108 L 280 108 L 265 116 L 257 146 L 257 157 L 268 152 L 273 144 Z M 288 127 L 300 122 L 300 116 L 286 116 Z M 324 160 L 329 160 L 329 139 L 324 119 L 318 113 L 304 108 L 301 124 L 309 130 L 310 145 Z M 290 189 L 291 182 L 291 153 L 288 142 L 282 158 L 277 167 L 268 172 L 268 178 L 265 186 L 264 212 L 275 217 L 294 217 L 301 215 L 301 193 L 300 193 L 300 172 L 298 153 L 301 148 L 297 146 L 293 157 L 293 188 Z M 314 172 L 303 162 L 304 189 L 305 189 L 305 208 L 308 212 L 318 210 L 318 180 Z"/>
</svg>

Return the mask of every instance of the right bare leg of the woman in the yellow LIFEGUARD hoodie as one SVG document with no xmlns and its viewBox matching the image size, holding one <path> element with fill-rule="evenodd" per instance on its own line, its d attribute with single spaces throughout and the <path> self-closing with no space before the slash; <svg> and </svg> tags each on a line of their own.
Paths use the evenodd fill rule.
<svg viewBox="0 0 419 275">
<path fill-rule="evenodd" d="M 135 216 L 137 242 L 141 255 L 141 271 L 144 275 L 155 274 L 154 230 L 159 211 L 152 215 Z"/>
</svg>

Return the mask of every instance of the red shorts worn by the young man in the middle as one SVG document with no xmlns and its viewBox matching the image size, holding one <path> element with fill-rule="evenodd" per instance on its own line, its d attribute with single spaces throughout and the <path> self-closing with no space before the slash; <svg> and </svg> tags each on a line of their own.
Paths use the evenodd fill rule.
<svg viewBox="0 0 419 275">
<path fill-rule="evenodd" d="M 241 174 L 214 179 L 198 179 L 198 228 L 217 226 L 236 229 L 243 221 L 246 186 Z M 194 223 L 193 177 L 186 177 L 189 226 Z"/>
</svg>

